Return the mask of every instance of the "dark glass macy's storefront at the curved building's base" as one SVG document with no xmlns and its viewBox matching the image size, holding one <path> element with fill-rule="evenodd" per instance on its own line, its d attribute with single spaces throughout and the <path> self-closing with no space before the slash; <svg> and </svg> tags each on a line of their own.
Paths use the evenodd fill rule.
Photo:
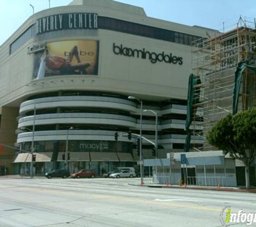
<svg viewBox="0 0 256 227">
<path fill-rule="evenodd" d="M 21 144 L 21 149 L 30 152 L 31 142 L 25 142 Z M 68 141 L 69 152 L 88 152 L 91 157 L 91 152 L 101 152 L 107 154 L 110 153 L 130 153 L 133 154 L 133 143 L 122 142 L 122 141 L 103 141 L 103 140 L 69 140 Z M 66 168 L 65 161 L 58 159 L 58 153 L 66 152 L 66 141 L 35 141 L 34 142 L 35 153 L 48 153 L 52 152 L 51 161 L 48 162 L 34 162 L 33 173 L 34 175 L 44 175 L 47 172 L 52 171 L 55 168 Z M 102 153 L 103 152 L 103 153 Z M 132 157 L 132 156 L 131 156 Z M 55 160 L 55 161 L 54 161 Z M 118 160 L 118 159 L 117 159 Z M 135 162 L 133 160 L 123 161 L 82 161 L 82 160 L 70 160 L 68 161 L 68 169 L 71 173 L 77 172 L 80 169 L 91 169 L 98 176 L 103 173 L 112 171 L 116 167 L 129 166 L 133 167 Z M 21 175 L 30 175 L 30 162 L 17 163 L 16 173 Z"/>
</svg>

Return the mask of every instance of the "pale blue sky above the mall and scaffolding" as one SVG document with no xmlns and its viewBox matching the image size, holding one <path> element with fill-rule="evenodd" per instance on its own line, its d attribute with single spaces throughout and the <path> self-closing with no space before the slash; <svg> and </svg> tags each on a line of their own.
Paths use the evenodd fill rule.
<svg viewBox="0 0 256 227">
<path fill-rule="evenodd" d="M 105 0 L 102 0 L 105 1 Z M 230 30 L 239 17 L 254 22 L 256 0 L 115 0 L 144 8 L 148 17 L 184 25 L 198 25 L 219 31 Z M 65 6 L 72 0 L 50 0 L 51 8 Z M 27 18 L 49 8 L 49 0 L 0 0 L 0 45 L 7 40 Z M 233 27 L 232 27 L 233 28 Z"/>
</svg>

